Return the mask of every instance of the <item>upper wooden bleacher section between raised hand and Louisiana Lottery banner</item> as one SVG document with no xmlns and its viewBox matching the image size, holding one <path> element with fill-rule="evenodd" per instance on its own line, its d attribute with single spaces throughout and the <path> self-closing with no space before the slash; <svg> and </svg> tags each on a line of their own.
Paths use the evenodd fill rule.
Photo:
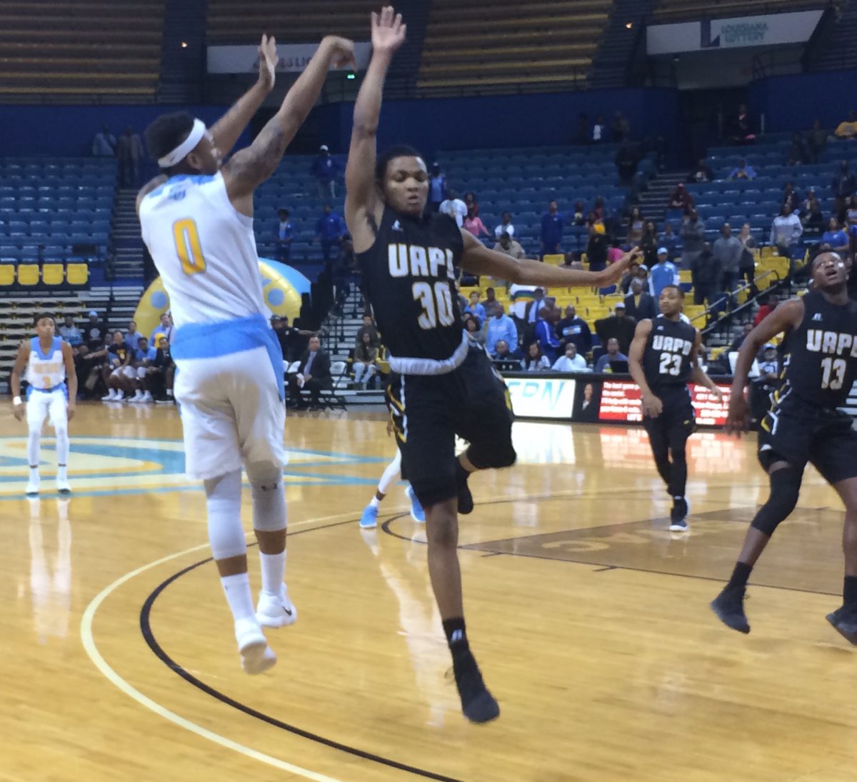
<svg viewBox="0 0 857 782">
<path fill-rule="evenodd" d="M 612 0 L 434 0 L 424 93 L 584 87 Z"/>
</svg>

